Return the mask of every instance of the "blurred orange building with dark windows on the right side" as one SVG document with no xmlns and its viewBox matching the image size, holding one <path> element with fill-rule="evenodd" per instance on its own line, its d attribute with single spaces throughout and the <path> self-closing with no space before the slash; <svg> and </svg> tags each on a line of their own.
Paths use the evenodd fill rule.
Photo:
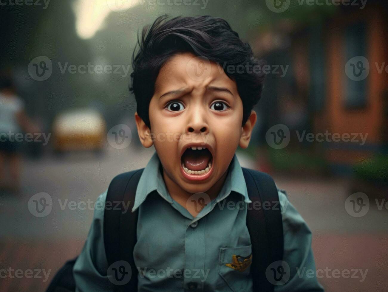
<svg viewBox="0 0 388 292">
<path fill-rule="evenodd" d="M 268 125 L 281 123 L 282 115 L 293 110 L 292 104 L 297 104 L 305 110 L 308 121 L 300 129 L 314 134 L 338 133 L 337 137 L 341 137 L 339 142 L 325 140 L 310 144 L 310 148 L 322 150 L 329 164 L 350 166 L 386 152 L 386 1 L 369 0 L 364 9 L 341 6 L 323 21 L 308 25 L 291 21 L 283 27 L 287 29 L 264 33 L 255 46 L 257 52 L 264 49 L 260 57 L 267 62 L 290 65 L 285 78 L 267 76 L 269 89 L 263 92 L 267 99 L 263 108 L 279 113 L 270 117 L 263 112 Z M 272 46 L 268 45 L 271 38 L 277 40 L 276 45 L 273 41 Z M 284 88 L 292 90 L 284 93 Z M 291 106 L 289 98 L 293 99 Z"/>
</svg>

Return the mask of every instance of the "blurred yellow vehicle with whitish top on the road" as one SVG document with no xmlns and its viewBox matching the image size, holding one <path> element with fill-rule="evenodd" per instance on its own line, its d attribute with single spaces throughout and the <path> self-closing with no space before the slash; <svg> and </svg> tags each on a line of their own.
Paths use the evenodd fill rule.
<svg viewBox="0 0 388 292">
<path fill-rule="evenodd" d="M 53 123 L 53 147 L 57 154 L 73 150 L 102 152 L 106 139 L 106 123 L 92 109 L 58 114 Z"/>
</svg>

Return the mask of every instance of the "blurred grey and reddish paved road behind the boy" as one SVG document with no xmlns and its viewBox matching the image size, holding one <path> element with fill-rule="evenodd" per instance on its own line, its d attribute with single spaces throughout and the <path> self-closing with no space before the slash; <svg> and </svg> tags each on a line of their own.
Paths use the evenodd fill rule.
<svg viewBox="0 0 388 292">
<path fill-rule="evenodd" d="M 46 281 L 43 271 L 43 278 L 8 276 L 0 279 L 0 291 L 43 290 L 64 261 L 80 252 L 93 216 L 88 204 L 93 206 L 116 174 L 144 167 L 153 152 L 107 147 L 99 159 L 79 154 L 24 161 L 23 191 L 18 197 L 0 197 L 0 269 L 42 269 L 50 275 Z M 255 166 L 246 157 L 238 157 L 242 166 Z M 327 291 L 386 290 L 387 210 L 371 204 L 362 218 L 350 216 L 344 208 L 347 185 L 341 180 L 275 176 L 275 181 L 287 190 L 314 233 L 317 269 L 369 270 L 363 282 L 360 278 L 334 278 L 329 273 L 320 279 Z M 50 195 L 52 210 L 38 218 L 29 211 L 28 202 L 41 192 Z M 72 204 L 81 204 L 85 210 Z"/>
</svg>

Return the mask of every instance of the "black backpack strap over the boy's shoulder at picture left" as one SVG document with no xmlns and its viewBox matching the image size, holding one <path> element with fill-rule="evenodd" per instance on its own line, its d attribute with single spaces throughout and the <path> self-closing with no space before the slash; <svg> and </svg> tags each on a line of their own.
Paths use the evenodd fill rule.
<svg viewBox="0 0 388 292">
<path fill-rule="evenodd" d="M 137 241 L 138 211 L 132 213 L 132 208 L 143 170 L 144 168 L 137 169 L 116 176 L 111 181 L 106 196 L 104 246 L 108 265 L 123 260 L 130 264 L 132 270 L 130 281 L 126 285 L 115 285 L 115 291 L 137 291 L 138 271 L 133 260 L 133 248 Z"/>
</svg>

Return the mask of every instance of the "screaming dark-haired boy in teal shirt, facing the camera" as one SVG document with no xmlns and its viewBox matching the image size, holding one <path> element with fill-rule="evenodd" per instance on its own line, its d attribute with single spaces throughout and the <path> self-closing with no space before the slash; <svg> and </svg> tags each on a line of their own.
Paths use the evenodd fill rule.
<svg viewBox="0 0 388 292">
<path fill-rule="evenodd" d="M 135 242 L 121 238 L 120 252 L 107 249 L 113 237 L 127 237 L 133 222 L 122 224 L 126 217 L 120 214 L 117 224 L 108 224 L 107 208 L 96 209 L 74 265 L 76 289 L 120 290 L 125 279 L 132 281 L 129 290 L 139 291 L 322 291 L 315 276 L 297 273 L 315 270 L 311 232 L 276 188 L 284 264 L 271 263 L 264 276 L 253 273 L 260 265 L 260 242 L 251 238 L 260 234 L 247 226 L 253 199 L 247 173 L 258 172 L 243 173 L 235 154 L 237 146 L 248 147 L 256 122 L 252 108 L 263 87 L 264 74 L 249 70 L 260 64 L 250 46 L 226 21 L 210 16 L 159 17 L 143 30 L 139 44 L 131 74 L 135 120 L 141 143 L 154 145 L 156 153 L 144 170 L 134 172 L 139 181 L 129 187 L 135 192 Z M 105 204 L 109 192 L 113 187 L 99 202 Z M 262 222 L 255 223 L 260 230 Z M 128 271 L 127 261 L 109 261 L 112 252 L 116 259 L 128 252 L 136 269 Z"/>
</svg>

